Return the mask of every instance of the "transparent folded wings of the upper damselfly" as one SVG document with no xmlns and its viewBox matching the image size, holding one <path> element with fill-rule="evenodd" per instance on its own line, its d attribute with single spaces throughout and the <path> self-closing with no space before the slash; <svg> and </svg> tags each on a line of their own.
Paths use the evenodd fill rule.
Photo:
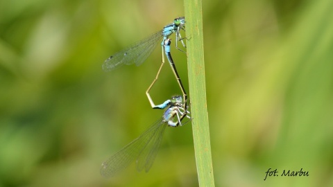
<svg viewBox="0 0 333 187">
<path fill-rule="evenodd" d="M 162 30 L 160 30 L 115 53 L 103 63 L 103 71 L 112 71 L 123 64 L 130 65 L 135 63 L 137 66 L 141 65 L 151 55 L 158 43 L 157 41 L 162 42 L 162 37 Z"/>
</svg>

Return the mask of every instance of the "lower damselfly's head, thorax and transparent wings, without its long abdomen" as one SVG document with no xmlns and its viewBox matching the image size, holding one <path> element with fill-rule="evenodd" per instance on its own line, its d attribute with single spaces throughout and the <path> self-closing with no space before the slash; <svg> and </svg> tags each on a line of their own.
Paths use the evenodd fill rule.
<svg viewBox="0 0 333 187">
<path fill-rule="evenodd" d="M 173 96 L 170 100 L 161 104 L 160 108 L 169 106 L 162 118 L 148 127 L 137 139 L 104 161 L 101 166 L 101 175 L 104 177 L 113 177 L 128 167 L 134 160 L 136 160 L 139 172 L 142 170 L 148 172 L 151 166 L 153 166 L 153 161 L 160 147 L 165 127 L 178 127 L 178 125 L 182 125 L 181 119 L 183 116 L 190 118 L 187 115 L 189 112 L 182 105 L 181 96 Z"/>
</svg>

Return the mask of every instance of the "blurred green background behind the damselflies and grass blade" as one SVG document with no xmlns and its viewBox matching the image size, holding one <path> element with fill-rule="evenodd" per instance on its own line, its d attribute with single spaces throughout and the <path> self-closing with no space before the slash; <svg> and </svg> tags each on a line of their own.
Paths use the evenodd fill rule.
<svg viewBox="0 0 333 187">
<path fill-rule="evenodd" d="M 203 2 L 216 186 L 333 186 L 332 10 L 330 0 Z M 144 94 L 159 47 L 139 67 L 106 73 L 103 61 L 183 14 L 176 0 L 0 1 L 0 187 L 198 186 L 191 123 L 166 129 L 150 172 L 99 175 L 162 115 Z M 186 57 L 172 50 L 188 90 Z M 166 65 L 151 95 L 173 94 Z M 269 168 L 309 177 L 264 181 Z"/>
</svg>

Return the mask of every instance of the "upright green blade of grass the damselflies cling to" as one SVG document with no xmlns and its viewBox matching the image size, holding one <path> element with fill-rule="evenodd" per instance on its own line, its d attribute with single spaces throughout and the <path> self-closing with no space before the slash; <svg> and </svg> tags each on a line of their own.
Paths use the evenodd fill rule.
<svg viewBox="0 0 333 187">
<path fill-rule="evenodd" d="M 208 123 L 201 0 L 185 0 L 187 67 L 199 186 L 214 186 Z"/>
</svg>

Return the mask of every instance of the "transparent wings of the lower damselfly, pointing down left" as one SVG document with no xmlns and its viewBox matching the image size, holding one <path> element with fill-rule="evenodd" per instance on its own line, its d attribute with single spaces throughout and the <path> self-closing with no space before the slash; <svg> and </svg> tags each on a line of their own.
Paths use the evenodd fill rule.
<svg viewBox="0 0 333 187">
<path fill-rule="evenodd" d="M 150 165 L 149 168 L 151 168 L 162 139 L 162 137 L 158 137 L 158 135 L 163 135 L 165 127 L 167 127 L 167 125 L 164 124 L 163 118 L 160 118 L 160 120 L 153 123 L 153 125 L 148 127 L 148 129 L 137 139 L 128 143 L 126 147 L 122 148 L 108 160 L 104 161 L 101 166 L 101 175 L 104 177 L 113 177 L 121 170 L 127 168 L 135 159 L 137 159 L 138 170 L 138 164 L 142 164 L 142 159 L 148 161 L 148 164 Z M 156 140 L 158 143 L 154 143 Z M 142 157 L 142 154 L 146 154 L 147 149 L 150 148 L 152 149 L 150 151 L 151 153 L 148 154 L 152 155 L 150 159 L 148 157 Z"/>
</svg>

